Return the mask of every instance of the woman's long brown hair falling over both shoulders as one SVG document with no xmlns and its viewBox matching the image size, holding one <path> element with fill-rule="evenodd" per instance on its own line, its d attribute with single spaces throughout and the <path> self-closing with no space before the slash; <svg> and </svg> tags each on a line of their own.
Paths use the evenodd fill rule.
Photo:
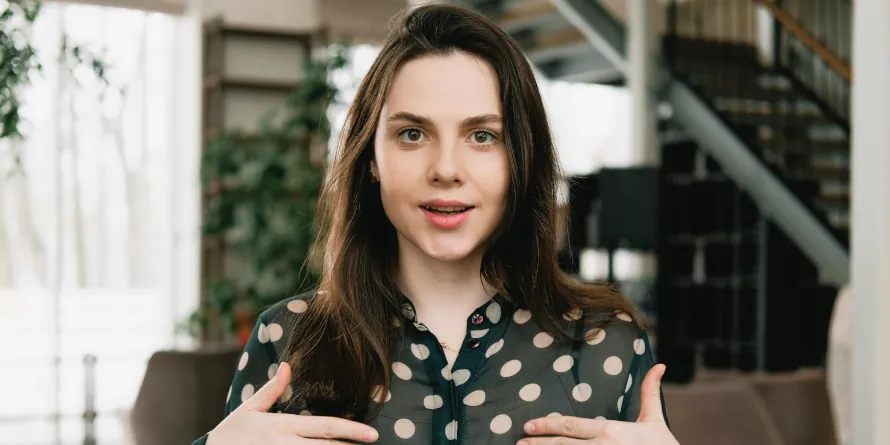
<svg viewBox="0 0 890 445">
<path fill-rule="evenodd" d="M 482 15 L 449 5 L 420 6 L 392 31 L 359 87 L 319 199 L 315 252 L 321 257 L 321 281 L 285 350 L 295 371 L 294 393 L 315 414 L 369 420 L 376 414 L 369 411 L 375 394 L 389 389 L 401 334 L 393 323 L 401 294 L 394 277 L 396 231 L 370 177 L 374 135 L 399 67 L 454 51 L 487 61 L 497 73 L 509 153 L 506 212 L 484 254 L 482 278 L 529 309 L 558 339 L 573 338 L 559 321 L 570 309 L 635 312 L 612 288 L 579 283 L 557 265 L 560 171 L 544 104 L 522 50 Z"/>
</svg>

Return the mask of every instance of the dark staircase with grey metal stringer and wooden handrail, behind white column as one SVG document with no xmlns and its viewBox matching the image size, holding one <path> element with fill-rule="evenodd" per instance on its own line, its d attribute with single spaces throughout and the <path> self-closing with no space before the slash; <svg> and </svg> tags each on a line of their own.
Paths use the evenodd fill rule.
<svg viewBox="0 0 890 445">
<path fill-rule="evenodd" d="M 626 1 L 462 3 L 548 78 L 621 85 Z M 849 274 L 850 0 L 652 4 L 673 110 L 655 292 L 666 378 L 819 366 Z"/>
</svg>

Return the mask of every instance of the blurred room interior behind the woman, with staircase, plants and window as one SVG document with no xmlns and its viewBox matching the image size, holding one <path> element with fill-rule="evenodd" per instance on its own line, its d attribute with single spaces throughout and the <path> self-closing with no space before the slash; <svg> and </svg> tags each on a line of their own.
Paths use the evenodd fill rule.
<svg viewBox="0 0 890 445">
<path fill-rule="evenodd" d="M 890 6 L 453 2 L 535 67 L 562 265 L 649 317 L 680 443 L 890 443 Z M 221 420 L 257 313 L 312 286 L 325 159 L 415 3 L 0 0 L 0 444 Z"/>
</svg>

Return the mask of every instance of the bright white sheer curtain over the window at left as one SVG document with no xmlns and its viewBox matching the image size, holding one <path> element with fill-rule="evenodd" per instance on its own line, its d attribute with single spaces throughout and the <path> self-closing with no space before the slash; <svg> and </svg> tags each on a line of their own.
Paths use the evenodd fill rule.
<svg viewBox="0 0 890 445">
<path fill-rule="evenodd" d="M 173 344 L 176 20 L 49 3 L 31 30 L 25 138 L 0 145 L 0 444 L 83 442 L 88 355 L 98 443 L 129 443 L 146 360 Z"/>
</svg>

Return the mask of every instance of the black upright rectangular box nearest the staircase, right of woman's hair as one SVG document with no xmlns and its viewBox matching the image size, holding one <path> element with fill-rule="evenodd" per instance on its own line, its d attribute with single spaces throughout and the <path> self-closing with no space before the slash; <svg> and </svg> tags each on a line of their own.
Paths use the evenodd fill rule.
<svg viewBox="0 0 890 445">
<path fill-rule="evenodd" d="M 599 244 L 653 251 L 658 238 L 659 170 L 603 169 L 599 174 Z"/>
</svg>

